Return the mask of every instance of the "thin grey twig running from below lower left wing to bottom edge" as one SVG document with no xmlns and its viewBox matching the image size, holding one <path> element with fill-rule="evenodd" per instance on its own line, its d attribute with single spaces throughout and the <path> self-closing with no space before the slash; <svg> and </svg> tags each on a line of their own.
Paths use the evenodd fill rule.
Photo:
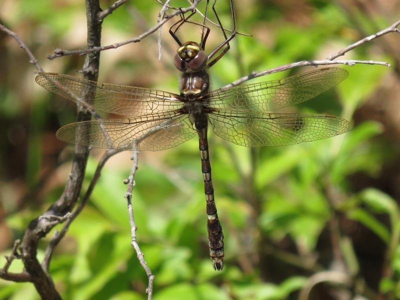
<svg viewBox="0 0 400 300">
<path fill-rule="evenodd" d="M 141 264 L 141 266 L 143 267 L 143 269 L 145 270 L 147 277 L 148 277 L 148 286 L 146 289 L 147 292 L 147 300 L 151 300 L 152 299 L 152 290 L 153 290 L 153 281 L 154 281 L 154 275 L 151 273 L 150 268 L 147 265 L 147 262 L 144 260 L 144 254 L 143 252 L 140 250 L 140 247 L 137 243 L 136 240 L 136 230 L 137 230 L 137 226 L 136 223 L 134 221 L 134 215 L 133 215 L 133 206 L 132 206 L 132 190 L 133 190 L 133 185 L 134 185 L 134 175 L 135 172 L 137 170 L 137 164 L 138 164 L 138 155 L 139 152 L 138 151 L 133 151 L 133 156 L 132 156 L 132 168 L 130 170 L 130 174 L 129 177 L 127 178 L 127 190 L 125 193 L 125 199 L 127 201 L 127 206 L 128 206 L 128 212 L 129 212 L 129 223 L 130 223 L 130 232 L 132 235 L 132 242 L 131 245 L 133 246 L 133 248 L 136 251 L 137 254 L 137 258 Z"/>
</svg>

